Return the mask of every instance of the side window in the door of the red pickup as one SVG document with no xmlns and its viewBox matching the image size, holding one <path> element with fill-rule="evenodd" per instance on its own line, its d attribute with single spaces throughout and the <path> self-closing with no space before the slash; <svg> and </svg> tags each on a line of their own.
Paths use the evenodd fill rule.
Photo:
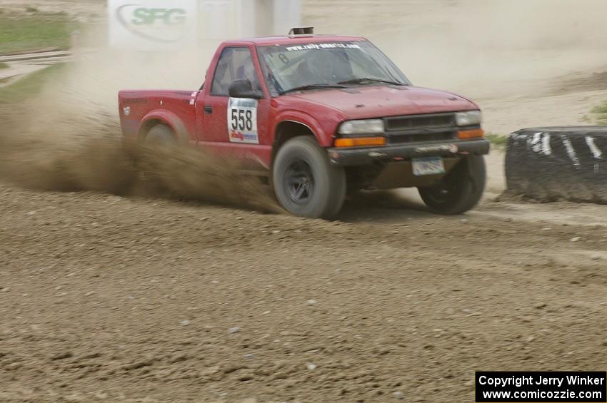
<svg viewBox="0 0 607 403">
<path fill-rule="evenodd" d="M 249 48 L 226 48 L 219 56 L 211 94 L 228 96 L 231 83 L 247 78 L 253 88 L 261 89 Z"/>
</svg>

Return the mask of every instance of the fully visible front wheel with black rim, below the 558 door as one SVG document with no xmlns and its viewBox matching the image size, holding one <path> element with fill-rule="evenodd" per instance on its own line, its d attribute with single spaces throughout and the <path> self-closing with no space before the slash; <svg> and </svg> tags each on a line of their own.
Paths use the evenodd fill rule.
<svg viewBox="0 0 607 403">
<path fill-rule="evenodd" d="M 287 141 L 276 154 L 272 177 L 279 203 L 301 217 L 333 218 L 346 197 L 346 173 L 331 165 L 313 137 Z"/>
</svg>

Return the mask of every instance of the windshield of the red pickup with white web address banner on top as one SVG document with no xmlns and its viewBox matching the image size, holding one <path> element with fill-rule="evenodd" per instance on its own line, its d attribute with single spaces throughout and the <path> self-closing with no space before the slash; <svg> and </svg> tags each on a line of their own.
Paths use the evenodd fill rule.
<svg viewBox="0 0 607 403">
<path fill-rule="evenodd" d="M 298 89 L 410 82 L 368 41 L 260 46 L 259 58 L 274 96 Z"/>
</svg>

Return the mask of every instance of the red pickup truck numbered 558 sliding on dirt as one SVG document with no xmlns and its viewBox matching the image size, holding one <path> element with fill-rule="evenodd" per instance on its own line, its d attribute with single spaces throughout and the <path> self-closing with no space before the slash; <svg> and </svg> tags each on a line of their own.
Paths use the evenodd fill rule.
<svg viewBox="0 0 607 403">
<path fill-rule="evenodd" d="M 367 39 L 292 32 L 224 42 L 199 90 L 121 91 L 124 136 L 239 158 L 304 217 L 334 217 L 358 189 L 417 187 L 441 214 L 478 203 L 475 103 L 412 86 Z"/>
</svg>

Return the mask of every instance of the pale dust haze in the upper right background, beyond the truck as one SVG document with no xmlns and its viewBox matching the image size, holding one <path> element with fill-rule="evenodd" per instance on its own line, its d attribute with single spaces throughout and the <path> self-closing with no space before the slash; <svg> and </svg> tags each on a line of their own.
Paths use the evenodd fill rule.
<svg viewBox="0 0 607 403">
<path fill-rule="evenodd" d="M 602 0 L 304 4 L 304 22 L 316 32 L 366 36 L 414 84 L 475 99 L 538 95 L 561 76 L 607 66 Z"/>
</svg>

